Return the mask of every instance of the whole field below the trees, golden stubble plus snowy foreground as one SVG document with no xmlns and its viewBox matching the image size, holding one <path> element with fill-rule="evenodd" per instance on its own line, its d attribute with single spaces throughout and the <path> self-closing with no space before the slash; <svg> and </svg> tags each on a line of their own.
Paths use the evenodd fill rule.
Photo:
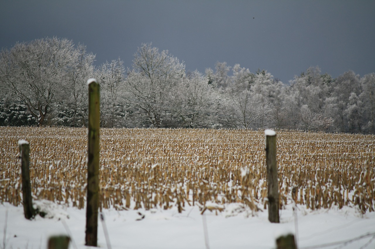
<svg viewBox="0 0 375 249">
<path fill-rule="evenodd" d="M 86 128 L 1 127 L 0 249 L 46 248 L 52 235 L 69 235 L 72 249 L 88 248 L 86 208 L 77 208 L 86 198 L 86 134 Z M 19 139 L 31 145 L 32 196 L 45 218 L 24 218 Z M 374 141 L 373 135 L 278 132 L 284 208 L 274 224 L 263 209 L 263 131 L 101 129 L 101 203 L 109 209 L 98 222 L 99 248 L 271 249 L 277 237 L 292 233 L 300 249 L 374 249 Z M 198 203 L 224 203 L 223 212 L 201 215 Z M 255 206 L 260 211 L 250 210 Z"/>
</svg>

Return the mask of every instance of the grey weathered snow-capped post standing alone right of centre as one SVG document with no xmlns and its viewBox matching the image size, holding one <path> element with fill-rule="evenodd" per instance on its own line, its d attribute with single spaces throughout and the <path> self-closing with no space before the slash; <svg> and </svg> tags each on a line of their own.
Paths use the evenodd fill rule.
<svg viewBox="0 0 375 249">
<path fill-rule="evenodd" d="M 279 184 L 278 166 L 276 162 L 276 132 L 266 129 L 266 164 L 268 182 L 268 219 L 279 223 Z"/>
</svg>

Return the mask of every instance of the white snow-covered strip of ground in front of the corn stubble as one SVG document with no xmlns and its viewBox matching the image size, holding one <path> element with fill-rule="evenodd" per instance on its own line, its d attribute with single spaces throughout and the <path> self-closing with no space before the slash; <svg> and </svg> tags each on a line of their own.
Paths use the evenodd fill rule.
<svg viewBox="0 0 375 249">
<path fill-rule="evenodd" d="M 86 209 L 48 201 L 36 204 L 48 211 L 49 218 L 37 216 L 29 221 L 24 218 L 22 206 L 0 204 L 0 248 L 46 248 L 48 237 L 60 234 L 72 237 L 69 248 L 88 248 L 84 245 Z M 352 207 L 312 211 L 298 206 L 296 220 L 288 205 L 280 211 L 281 223 L 272 224 L 267 210 L 253 216 L 240 204 L 225 207 L 217 215 L 207 210 L 204 216 L 197 206 L 187 206 L 182 213 L 177 212 L 177 207 L 147 211 L 106 209 L 105 223 L 98 221 L 98 246 L 107 248 L 105 224 L 112 248 L 276 248 L 275 238 L 288 232 L 296 234 L 299 248 L 375 248 L 375 212 L 362 215 Z M 358 239 L 366 234 L 371 235 Z M 323 246 L 326 244 L 332 245 Z"/>
</svg>

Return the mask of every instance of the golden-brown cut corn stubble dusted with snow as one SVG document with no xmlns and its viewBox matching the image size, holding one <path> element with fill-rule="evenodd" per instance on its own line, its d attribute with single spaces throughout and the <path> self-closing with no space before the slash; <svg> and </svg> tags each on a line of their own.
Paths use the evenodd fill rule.
<svg viewBox="0 0 375 249">
<path fill-rule="evenodd" d="M 87 129 L 0 127 L 0 201 L 21 204 L 17 142 L 30 142 L 32 195 L 83 208 Z M 280 208 L 355 206 L 374 211 L 375 136 L 280 130 Z M 101 129 L 100 208 L 169 209 L 226 203 L 267 206 L 264 132 L 213 129 Z"/>
</svg>

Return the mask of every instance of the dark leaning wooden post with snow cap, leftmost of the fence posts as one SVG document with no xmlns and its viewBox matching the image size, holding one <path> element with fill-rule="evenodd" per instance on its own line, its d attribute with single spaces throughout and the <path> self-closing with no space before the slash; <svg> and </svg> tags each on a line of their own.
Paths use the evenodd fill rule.
<svg viewBox="0 0 375 249">
<path fill-rule="evenodd" d="M 31 184 L 29 171 L 29 152 L 30 147 L 26 140 L 19 140 L 20 148 L 21 174 L 22 174 L 22 196 L 24 205 L 24 214 L 26 219 L 31 219 L 35 215 L 33 203 L 31 199 Z"/>
</svg>

